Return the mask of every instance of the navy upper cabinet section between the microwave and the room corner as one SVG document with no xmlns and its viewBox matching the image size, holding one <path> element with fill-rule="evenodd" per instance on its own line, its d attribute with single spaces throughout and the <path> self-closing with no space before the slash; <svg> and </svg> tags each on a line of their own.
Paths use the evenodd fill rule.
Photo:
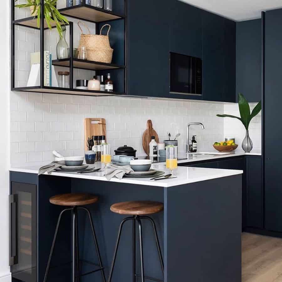
<svg viewBox="0 0 282 282">
<path fill-rule="evenodd" d="M 235 102 L 236 23 L 203 11 L 202 24 L 202 100 Z"/>
</svg>

